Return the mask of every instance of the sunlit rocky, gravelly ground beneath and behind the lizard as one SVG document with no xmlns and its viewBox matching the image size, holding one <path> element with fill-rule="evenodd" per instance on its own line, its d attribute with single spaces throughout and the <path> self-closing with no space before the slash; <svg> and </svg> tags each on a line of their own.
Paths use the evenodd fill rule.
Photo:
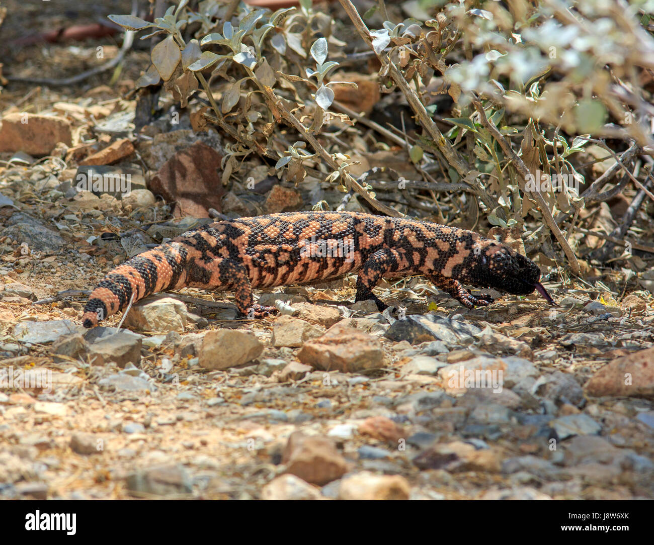
<svg viewBox="0 0 654 545">
<path fill-rule="evenodd" d="M 18 52 L 12 73 L 57 76 L 53 50 L 75 74 L 71 56 L 94 58 L 95 44 Z M 184 289 L 135 305 L 120 330 L 122 314 L 84 330 L 88 290 L 113 265 L 211 221 L 193 206 L 236 217 L 342 197 L 315 172 L 282 186 L 240 156 L 208 193 L 222 139 L 184 112 L 135 139 L 125 93 L 141 67 L 125 69 L 111 88 L 0 100 L 0 497 L 654 497 L 646 257 L 638 283 L 627 269 L 545 281 L 553 308 L 534 294 L 466 310 L 407 278 L 376 290 L 395 306 L 380 313 L 348 302 L 351 276 L 257 291 L 281 310 L 264 320 L 237 319 L 231 293 Z M 129 175 L 131 193 L 77 191 L 89 169 Z M 181 172 L 204 201 L 175 193 Z"/>
</svg>

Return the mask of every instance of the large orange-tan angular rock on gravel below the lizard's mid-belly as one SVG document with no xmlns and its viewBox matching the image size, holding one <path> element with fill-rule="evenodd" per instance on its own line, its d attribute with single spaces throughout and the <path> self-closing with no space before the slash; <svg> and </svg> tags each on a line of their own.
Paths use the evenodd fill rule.
<svg viewBox="0 0 654 545">
<path fill-rule="evenodd" d="M 341 325 L 330 328 L 322 337 L 307 340 L 298 359 L 324 371 L 357 372 L 385 365 L 379 339 Z"/>
</svg>

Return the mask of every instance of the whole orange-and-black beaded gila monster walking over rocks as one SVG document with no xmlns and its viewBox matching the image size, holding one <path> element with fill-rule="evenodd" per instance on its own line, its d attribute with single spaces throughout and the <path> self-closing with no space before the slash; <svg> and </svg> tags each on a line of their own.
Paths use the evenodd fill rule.
<svg viewBox="0 0 654 545">
<path fill-rule="evenodd" d="M 285 212 L 211 223 L 131 257 L 92 291 L 84 327 L 165 289 L 185 286 L 235 292 L 236 305 L 250 318 L 275 307 L 256 305 L 252 288 L 308 284 L 358 272 L 356 301 L 372 299 L 384 278 L 422 274 L 462 305 L 490 305 L 489 295 L 472 295 L 462 284 L 515 295 L 538 289 L 536 263 L 508 246 L 473 231 L 437 223 L 359 212 Z"/>
</svg>

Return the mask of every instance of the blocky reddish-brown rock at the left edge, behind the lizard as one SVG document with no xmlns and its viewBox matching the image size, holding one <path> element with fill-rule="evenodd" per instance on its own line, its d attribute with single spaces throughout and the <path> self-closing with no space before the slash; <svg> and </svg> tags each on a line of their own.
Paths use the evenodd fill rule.
<svg viewBox="0 0 654 545">
<path fill-rule="evenodd" d="M 2 118 L 0 152 L 25 152 L 31 156 L 49 155 L 58 142 L 73 144 L 71 124 L 58 116 L 16 112 Z"/>
</svg>

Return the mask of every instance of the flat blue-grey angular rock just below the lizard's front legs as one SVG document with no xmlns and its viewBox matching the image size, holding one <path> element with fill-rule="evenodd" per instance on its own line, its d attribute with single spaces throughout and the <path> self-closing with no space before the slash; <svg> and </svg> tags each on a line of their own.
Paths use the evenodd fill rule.
<svg viewBox="0 0 654 545">
<path fill-rule="evenodd" d="M 396 320 L 385 333 L 385 337 L 396 342 L 407 340 L 411 344 L 441 340 L 447 346 L 460 342 L 472 342 L 481 329 L 466 322 L 451 320 L 434 314 L 412 314 Z"/>
</svg>

